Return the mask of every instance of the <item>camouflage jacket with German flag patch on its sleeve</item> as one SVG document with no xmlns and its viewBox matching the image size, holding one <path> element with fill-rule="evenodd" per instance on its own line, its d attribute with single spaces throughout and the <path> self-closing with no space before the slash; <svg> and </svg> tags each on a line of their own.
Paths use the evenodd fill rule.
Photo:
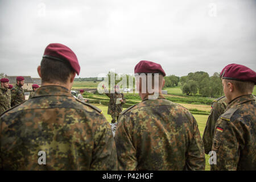
<svg viewBox="0 0 256 182">
<path fill-rule="evenodd" d="M 255 137 L 255 97 L 237 97 L 217 120 L 212 145 L 217 164 L 211 170 L 256 170 Z"/>
</svg>

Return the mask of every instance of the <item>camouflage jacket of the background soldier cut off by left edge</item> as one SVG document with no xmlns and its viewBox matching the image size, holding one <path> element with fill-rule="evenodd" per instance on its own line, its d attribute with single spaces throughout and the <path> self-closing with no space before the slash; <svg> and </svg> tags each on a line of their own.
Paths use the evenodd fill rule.
<svg viewBox="0 0 256 182">
<path fill-rule="evenodd" d="M 0 87 L 0 114 L 11 108 L 11 91 Z"/>
</svg>

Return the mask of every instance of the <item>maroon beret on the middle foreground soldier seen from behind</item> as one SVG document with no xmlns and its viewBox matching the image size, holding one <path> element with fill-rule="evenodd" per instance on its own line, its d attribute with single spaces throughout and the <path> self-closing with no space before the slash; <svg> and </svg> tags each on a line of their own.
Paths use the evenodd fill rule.
<svg viewBox="0 0 256 182">
<path fill-rule="evenodd" d="M 166 76 L 161 65 L 151 61 L 139 61 L 139 63 L 135 65 L 134 73 L 159 73 Z"/>
</svg>

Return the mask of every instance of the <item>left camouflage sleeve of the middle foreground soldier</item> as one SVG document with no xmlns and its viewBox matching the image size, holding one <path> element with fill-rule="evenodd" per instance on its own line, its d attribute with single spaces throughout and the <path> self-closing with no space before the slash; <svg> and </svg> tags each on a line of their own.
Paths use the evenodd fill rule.
<svg viewBox="0 0 256 182">
<path fill-rule="evenodd" d="M 131 131 L 127 123 L 129 117 L 121 115 L 118 118 L 115 144 L 117 146 L 118 170 L 131 171 L 137 168 L 136 148 L 131 139 Z"/>
</svg>

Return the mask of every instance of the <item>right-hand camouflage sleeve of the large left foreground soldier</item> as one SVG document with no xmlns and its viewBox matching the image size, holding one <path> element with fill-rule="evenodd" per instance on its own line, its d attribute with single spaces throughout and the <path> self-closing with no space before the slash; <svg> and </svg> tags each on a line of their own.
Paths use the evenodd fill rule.
<svg viewBox="0 0 256 182">
<path fill-rule="evenodd" d="M 90 170 L 117 170 L 117 150 L 112 130 L 103 115 L 98 118 L 94 118 L 97 126 L 94 131 L 94 150 Z"/>
</svg>

